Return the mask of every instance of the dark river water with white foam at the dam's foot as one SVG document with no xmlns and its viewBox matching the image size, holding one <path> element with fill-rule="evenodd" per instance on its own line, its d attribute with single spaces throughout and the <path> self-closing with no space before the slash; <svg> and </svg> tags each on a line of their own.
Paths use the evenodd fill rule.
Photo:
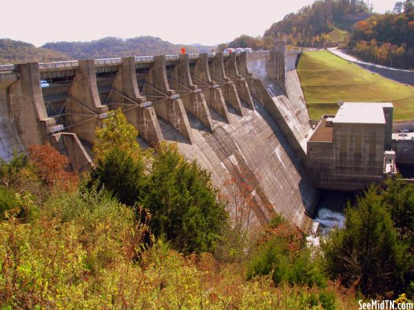
<svg viewBox="0 0 414 310">
<path fill-rule="evenodd" d="M 317 216 L 314 219 L 319 223 L 317 231 L 328 234 L 333 227 L 344 227 L 344 209 L 348 200 L 355 203 L 356 192 L 320 191 L 317 205 Z"/>
</svg>

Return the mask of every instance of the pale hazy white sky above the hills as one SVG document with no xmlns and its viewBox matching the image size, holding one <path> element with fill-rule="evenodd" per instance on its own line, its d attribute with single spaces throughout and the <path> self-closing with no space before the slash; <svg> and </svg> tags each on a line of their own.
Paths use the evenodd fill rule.
<svg viewBox="0 0 414 310">
<path fill-rule="evenodd" d="M 397 0 L 370 0 L 375 12 Z M 1 1 L 0 38 L 42 45 L 102 37 L 150 35 L 172 43 L 216 45 L 240 34 L 262 35 L 275 21 L 313 0 L 8 0 Z"/>
</svg>

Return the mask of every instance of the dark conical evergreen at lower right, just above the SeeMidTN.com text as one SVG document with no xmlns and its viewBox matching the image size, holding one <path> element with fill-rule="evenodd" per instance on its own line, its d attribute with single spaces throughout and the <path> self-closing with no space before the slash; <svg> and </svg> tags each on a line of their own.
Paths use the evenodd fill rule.
<svg viewBox="0 0 414 310">
<path fill-rule="evenodd" d="M 355 208 L 348 205 L 345 228 L 333 231 L 325 245 L 331 276 L 367 296 L 384 296 L 399 287 L 407 269 L 405 252 L 375 186 Z"/>
</svg>

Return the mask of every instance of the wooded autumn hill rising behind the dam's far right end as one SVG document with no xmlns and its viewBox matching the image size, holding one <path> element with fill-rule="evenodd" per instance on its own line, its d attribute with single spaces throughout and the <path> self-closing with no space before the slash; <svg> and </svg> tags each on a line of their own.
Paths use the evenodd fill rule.
<svg viewBox="0 0 414 310">
<path fill-rule="evenodd" d="M 221 43 L 217 50 L 225 48 L 270 49 L 275 39 L 286 39 L 297 46 L 337 45 L 346 41 L 355 23 L 371 16 L 371 9 L 362 0 L 317 0 L 290 13 L 282 21 L 273 23 L 263 37 L 242 34 L 229 43 Z"/>
</svg>

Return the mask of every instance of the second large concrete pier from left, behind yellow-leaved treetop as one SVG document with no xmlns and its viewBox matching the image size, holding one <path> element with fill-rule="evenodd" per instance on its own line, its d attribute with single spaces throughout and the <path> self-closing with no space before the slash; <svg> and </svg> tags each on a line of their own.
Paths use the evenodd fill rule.
<svg viewBox="0 0 414 310">
<path fill-rule="evenodd" d="M 101 127 L 106 118 L 108 107 L 101 104 L 95 73 L 95 60 L 79 61 L 75 79 L 68 92 L 67 111 L 70 130 L 79 138 L 94 143 L 95 130 Z"/>
</svg>

